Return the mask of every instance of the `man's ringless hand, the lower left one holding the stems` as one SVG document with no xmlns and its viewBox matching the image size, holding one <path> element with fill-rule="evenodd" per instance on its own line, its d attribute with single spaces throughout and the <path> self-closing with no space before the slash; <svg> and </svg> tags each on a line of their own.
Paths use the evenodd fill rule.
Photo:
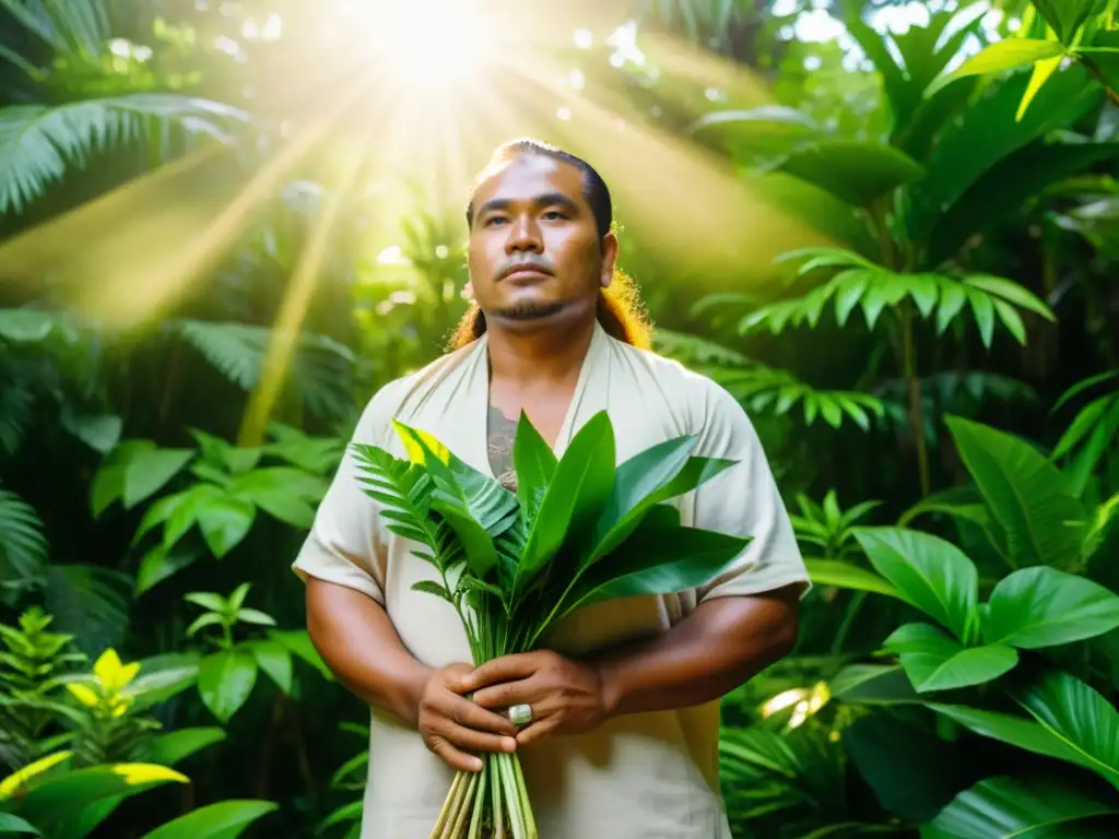
<svg viewBox="0 0 1119 839">
<path fill-rule="evenodd" d="M 480 772 L 482 762 L 463 750 L 514 752 L 517 726 L 466 698 L 470 664 L 434 670 L 420 694 L 417 726 L 423 742 L 452 769 Z"/>
</svg>

